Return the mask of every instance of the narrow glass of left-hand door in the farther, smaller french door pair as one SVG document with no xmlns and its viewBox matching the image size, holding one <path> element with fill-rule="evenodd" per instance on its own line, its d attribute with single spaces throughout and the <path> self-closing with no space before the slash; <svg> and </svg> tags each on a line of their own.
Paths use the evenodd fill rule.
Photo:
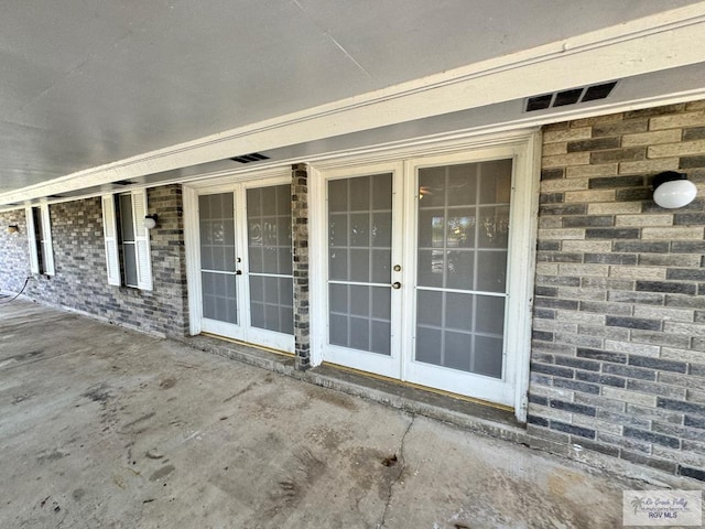
<svg viewBox="0 0 705 529">
<path fill-rule="evenodd" d="M 198 197 L 203 315 L 238 323 L 232 193 Z"/>
</svg>

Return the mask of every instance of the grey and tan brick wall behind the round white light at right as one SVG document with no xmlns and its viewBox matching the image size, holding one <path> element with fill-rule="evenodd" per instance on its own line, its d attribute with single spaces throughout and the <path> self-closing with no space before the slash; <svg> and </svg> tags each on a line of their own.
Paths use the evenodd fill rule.
<svg viewBox="0 0 705 529">
<path fill-rule="evenodd" d="M 704 481 L 705 101 L 545 127 L 541 180 L 529 431 Z"/>
</svg>

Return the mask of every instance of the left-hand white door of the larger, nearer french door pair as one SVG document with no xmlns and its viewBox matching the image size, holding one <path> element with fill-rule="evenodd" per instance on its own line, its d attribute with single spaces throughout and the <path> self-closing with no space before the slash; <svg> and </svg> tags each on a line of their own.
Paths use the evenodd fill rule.
<svg viewBox="0 0 705 529">
<path fill-rule="evenodd" d="M 326 359 L 401 376 L 399 163 L 326 173 Z"/>
</svg>

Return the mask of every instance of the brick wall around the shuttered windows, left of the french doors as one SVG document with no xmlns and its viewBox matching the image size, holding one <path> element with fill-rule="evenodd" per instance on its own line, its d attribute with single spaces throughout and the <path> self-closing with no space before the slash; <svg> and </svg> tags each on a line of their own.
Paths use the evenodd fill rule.
<svg viewBox="0 0 705 529">
<path fill-rule="evenodd" d="M 0 230 L 0 289 L 42 303 L 77 310 L 161 335 L 187 330 L 181 186 L 148 190 L 149 212 L 159 214 L 151 234 L 154 290 L 111 287 L 106 273 L 100 197 L 52 204 L 52 239 L 56 274 L 32 276 L 24 210 L 0 214 L 1 226 L 18 224 L 18 234 Z"/>
</svg>

